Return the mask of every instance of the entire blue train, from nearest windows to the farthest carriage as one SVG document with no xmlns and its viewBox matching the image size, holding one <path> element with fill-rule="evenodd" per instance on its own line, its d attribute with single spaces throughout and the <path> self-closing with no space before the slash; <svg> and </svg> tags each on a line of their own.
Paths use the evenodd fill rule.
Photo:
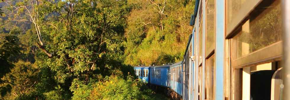
<svg viewBox="0 0 290 100">
<path fill-rule="evenodd" d="M 289 11 L 289 0 L 196 0 L 182 61 L 136 75 L 175 99 L 288 100 Z"/>
</svg>

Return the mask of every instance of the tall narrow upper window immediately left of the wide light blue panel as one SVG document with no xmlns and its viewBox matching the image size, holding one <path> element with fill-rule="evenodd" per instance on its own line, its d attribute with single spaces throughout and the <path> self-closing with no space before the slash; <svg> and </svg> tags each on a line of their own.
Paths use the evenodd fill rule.
<svg viewBox="0 0 290 100">
<path fill-rule="evenodd" d="M 205 55 L 215 49 L 215 0 L 207 0 L 205 12 Z"/>
</svg>

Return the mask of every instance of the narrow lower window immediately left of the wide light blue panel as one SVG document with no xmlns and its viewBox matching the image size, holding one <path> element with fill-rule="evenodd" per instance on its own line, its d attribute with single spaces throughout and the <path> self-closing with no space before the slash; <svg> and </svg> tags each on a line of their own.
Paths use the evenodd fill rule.
<svg viewBox="0 0 290 100">
<path fill-rule="evenodd" d="M 205 62 L 205 98 L 208 100 L 215 99 L 215 55 L 206 59 Z"/>
</svg>

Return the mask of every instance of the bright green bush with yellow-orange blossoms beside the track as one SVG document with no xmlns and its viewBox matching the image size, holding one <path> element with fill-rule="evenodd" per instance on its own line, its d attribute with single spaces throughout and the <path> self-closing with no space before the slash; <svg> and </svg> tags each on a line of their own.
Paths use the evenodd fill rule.
<svg viewBox="0 0 290 100">
<path fill-rule="evenodd" d="M 99 81 L 92 81 L 88 85 L 84 85 L 79 80 L 74 80 L 76 89 L 73 89 L 73 100 L 155 100 L 165 99 L 164 95 L 156 94 L 141 80 L 134 80 L 132 76 L 128 79 L 120 78 L 120 76 L 106 76 Z"/>
</svg>

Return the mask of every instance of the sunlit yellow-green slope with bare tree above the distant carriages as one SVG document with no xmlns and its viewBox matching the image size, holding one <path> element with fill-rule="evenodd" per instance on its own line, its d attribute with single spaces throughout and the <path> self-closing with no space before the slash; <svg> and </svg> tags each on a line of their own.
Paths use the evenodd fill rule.
<svg viewBox="0 0 290 100">
<path fill-rule="evenodd" d="M 140 0 L 125 29 L 125 63 L 133 66 L 162 65 L 183 59 L 192 32 L 189 26 L 194 1 Z"/>
</svg>

